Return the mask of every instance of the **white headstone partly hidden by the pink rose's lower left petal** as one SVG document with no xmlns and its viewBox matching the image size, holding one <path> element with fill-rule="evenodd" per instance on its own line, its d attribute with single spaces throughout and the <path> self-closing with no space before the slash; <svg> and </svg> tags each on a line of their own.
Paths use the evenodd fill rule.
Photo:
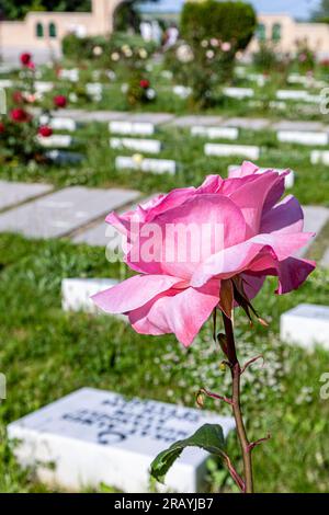
<svg viewBox="0 0 329 515">
<path fill-rule="evenodd" d="M 61 281 L 61 308 L 64 311 L 84 311 L 100 313 L 92 295 L 110 289 L 118 283 L 116 279 L 81 279 L 67 278 Z M 102 312 L 103 313 L 103 312 Z"/>
</svg>

